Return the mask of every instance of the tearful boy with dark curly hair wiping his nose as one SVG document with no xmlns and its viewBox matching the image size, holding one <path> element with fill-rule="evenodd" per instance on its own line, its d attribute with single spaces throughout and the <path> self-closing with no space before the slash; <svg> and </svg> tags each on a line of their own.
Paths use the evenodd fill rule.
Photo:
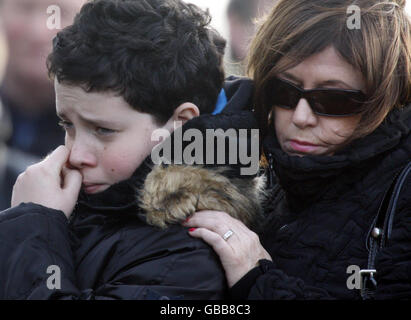
<svg viewBox="0 0 411 320">
<path fill-rule="evenodd" d="M 48 68 L 65 146 L 19 176 L 0 214 L 0 298 L 224 297 L 211 248 L 147 224 L 136 201 L 154 130 L 214 109 L 222 42 L 208 22 L 179 0 L 95 0 L 58 34 Z"/>
</svg>

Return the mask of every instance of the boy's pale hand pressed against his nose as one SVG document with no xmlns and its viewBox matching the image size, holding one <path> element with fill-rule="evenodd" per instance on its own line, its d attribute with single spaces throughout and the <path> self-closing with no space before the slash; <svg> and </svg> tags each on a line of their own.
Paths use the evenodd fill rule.
<svg viewBox="0 0 411 320">
<path fill-rule="evenodd" d="M 69 218 L 82 183 L 80 172 L 65 166 L 69 154 L 65 146 L 60 146 L 20 174 L 13 187 L 11 206 L 33 202 L 61 210 Z"/>
</svg>

